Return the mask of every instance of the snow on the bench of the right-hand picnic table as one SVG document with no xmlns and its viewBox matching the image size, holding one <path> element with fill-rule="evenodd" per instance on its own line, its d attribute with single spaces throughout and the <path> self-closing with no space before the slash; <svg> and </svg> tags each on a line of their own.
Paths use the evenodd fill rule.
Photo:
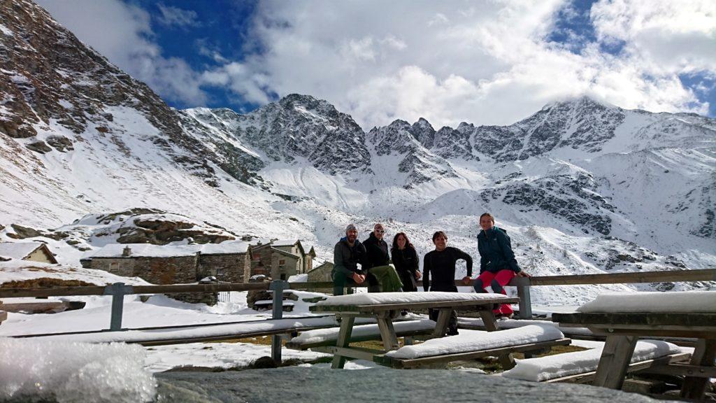
<svg viewBox="0 0 716 403">
<path fill-rule="evenodd" d="M 596 371 L 602 348 L 517 360 L 513 369 L 504 371 L 501 375 L 535 382 L 559 381 L 575 374 L 589 375 Z M 642 340 L 637 342 L 637 347 L 634 349 L 632 364 L 681 353 L 682 350 L 675 344 L 658 340 Z"/>
</svg>

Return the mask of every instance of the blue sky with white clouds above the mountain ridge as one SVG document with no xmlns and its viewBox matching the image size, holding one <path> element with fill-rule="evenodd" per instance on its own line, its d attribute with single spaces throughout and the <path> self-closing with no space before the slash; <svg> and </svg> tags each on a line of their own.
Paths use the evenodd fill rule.
<svg viewBox="0 0 716 403">
<path fill-rule="evenodd" d="M 510 124 L 579 95 L 716 117 L 716 2 L 39 0 L 175 108 L 304 93 L 364 128 Z"/>
</svg>

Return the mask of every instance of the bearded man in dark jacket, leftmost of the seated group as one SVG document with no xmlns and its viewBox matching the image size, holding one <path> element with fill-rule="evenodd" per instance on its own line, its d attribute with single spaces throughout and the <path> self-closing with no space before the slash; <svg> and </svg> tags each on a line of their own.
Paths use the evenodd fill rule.
<svg viewBox="0 0 716 403">
<path fill-rule="evenodd" d="M 333 248 L 333 295 L 343 295 L 346 285 L 363 283 L 366 266 L 365 247 L 358 240 L 358 230 L 353 224 L 348 224 L 346 236 Z"/>
</svg>

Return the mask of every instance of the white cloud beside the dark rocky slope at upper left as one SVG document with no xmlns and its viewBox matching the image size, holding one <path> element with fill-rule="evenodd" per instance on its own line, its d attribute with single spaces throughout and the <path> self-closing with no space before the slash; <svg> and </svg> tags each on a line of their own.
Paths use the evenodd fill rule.
<svg viewBox="0 0 716 403">
<path fill-rule="evenodd" d="M 38 4 L 82 42 L 164 99 L 205 104 L 199 75 L 184 60 L 163 57 L 144 9 L 120 0 L 39 0 Z"/>
</svg>

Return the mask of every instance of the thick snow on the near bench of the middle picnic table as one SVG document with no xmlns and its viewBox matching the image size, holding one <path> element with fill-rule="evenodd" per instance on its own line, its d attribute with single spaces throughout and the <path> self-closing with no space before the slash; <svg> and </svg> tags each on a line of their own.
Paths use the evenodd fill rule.
<svg viewBox="0 0 716 403">
<path fill-rule="evenodd" d="M 415 346 L 403 346 L 389 351 L 386 356 L 395 359 L 417 359 L 420 357 L 441 356 L 445 354 L 469 353 L 500 347 L 520 346 L 563 338 L 564 335 L 554 326 L 535 324 L 503 331 L 467 331 L 460 330 L 457 336 L 432 338 Z"/>
</svg>

